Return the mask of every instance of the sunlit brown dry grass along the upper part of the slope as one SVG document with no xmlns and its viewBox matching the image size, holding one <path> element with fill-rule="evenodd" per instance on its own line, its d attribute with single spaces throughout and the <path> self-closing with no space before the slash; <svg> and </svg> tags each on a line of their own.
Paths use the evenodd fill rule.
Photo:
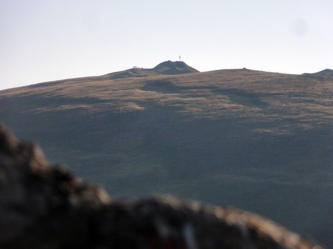
<svg viewBox="0 0 333 249">
<path fill-rule="evenodd" d="M 154 87 L 149 87 L 150 84 Z M 197 118 L 233 116 L 246 117 L 253 122 L 292 118 L 298 120 L 293 126 L 304 128 L 315 128 L 333 119 L 332 77 L 322 75 L 290 75 L 247 69 L 115 80 L 108 80 L 107 75 L 103 75 L 0 92 L 0 97 L 35 95 L 44 100 L 52 97 L 52 105 L 43 106 L 39 111 L 85 108 L 88 112 L 103 112 L 105 109 L 132 112 L 147 108 L 143 103 L 154 103 Z M 58 97 L 66 99 L 67 103 L 57 105 L 54 101 Z M 284 129 L 288 127 L 275 127 L 273 130 Z"/>
</svg>

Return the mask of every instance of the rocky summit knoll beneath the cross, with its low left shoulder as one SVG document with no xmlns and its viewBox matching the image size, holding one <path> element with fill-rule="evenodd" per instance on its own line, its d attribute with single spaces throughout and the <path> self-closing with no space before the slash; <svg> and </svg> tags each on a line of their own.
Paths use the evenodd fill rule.
<svg viewBox="0 0 333 249">
<path fill-rule="evenodd" d="M 157 75 L 176 75 L 184 73 L 198 73 L 199 71 L 193 67 L 190 67 L 183 61 L 164 61 L 158 64 L 154 68 L 138 68 L 133 67 L 124 71 L 108 73 L 110 79 L 119 78 L 137 78 L 137 77 L 149 77 Z"/>
</svg>

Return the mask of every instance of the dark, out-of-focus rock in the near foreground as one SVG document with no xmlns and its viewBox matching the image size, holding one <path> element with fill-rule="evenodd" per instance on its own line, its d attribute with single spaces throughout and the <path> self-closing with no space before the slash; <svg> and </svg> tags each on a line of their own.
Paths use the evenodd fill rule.
<svg viewBox="0 0 333 249">
<path fill-rule="evenodd" d="M 110 198 L 0 126 L 0 248 L 321 249 L 231 207 Z"/>
</svg>

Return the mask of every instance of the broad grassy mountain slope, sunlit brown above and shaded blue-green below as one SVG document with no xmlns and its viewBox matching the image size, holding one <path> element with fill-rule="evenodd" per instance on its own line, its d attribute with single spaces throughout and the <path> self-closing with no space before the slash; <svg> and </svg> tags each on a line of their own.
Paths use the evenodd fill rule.
<svg viewBox="0 0 333 249">
<path fill-rule="evenodd" d="M 108 77 L 0 91 L 0 120 L 110 195 L 233 205 L 333 244 L 333 74 Z"/>
</svg>

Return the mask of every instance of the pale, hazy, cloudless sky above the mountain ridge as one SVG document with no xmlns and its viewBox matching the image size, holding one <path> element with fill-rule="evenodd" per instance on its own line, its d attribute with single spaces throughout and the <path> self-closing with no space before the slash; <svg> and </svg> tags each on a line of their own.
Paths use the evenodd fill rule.
<svg viewBox="0 0 333 249">
<path fill-rule="evenodd" d="M 0 89 L 181 60 L 333 69 L 333 1 L 0 0 Z"/>
</svg>

